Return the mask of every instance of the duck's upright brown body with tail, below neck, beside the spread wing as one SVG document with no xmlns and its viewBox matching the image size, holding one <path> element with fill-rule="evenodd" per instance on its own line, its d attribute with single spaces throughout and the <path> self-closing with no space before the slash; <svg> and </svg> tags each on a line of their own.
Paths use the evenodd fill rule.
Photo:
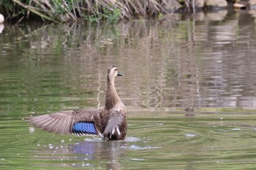
<svg viewBox="0 0 256 170">
<path fill-rule="evenodd" d="M 127 133 L 127 122 L 124 111 L 113 109 L 103 132 L 104 139 L 124 139 Z"/>
</svg>

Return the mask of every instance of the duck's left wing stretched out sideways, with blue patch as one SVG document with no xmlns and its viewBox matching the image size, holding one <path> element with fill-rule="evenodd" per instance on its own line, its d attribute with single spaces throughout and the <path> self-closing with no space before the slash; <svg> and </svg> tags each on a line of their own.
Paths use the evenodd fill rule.
<svg viewBox="0 0 256 170">
<path fill-rule="evenodd" d="M 30 117 L 31 124 L 45 131 L 59 134 L 100 135 L 99 110 L 71 110 Z"/>
</svg>

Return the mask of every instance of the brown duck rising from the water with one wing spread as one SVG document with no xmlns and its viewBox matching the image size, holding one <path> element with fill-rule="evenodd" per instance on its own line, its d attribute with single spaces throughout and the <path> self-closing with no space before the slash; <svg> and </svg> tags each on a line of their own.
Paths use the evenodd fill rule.
<svg viewBox="0 0 256 170">
<path fill-rule="evenodd" d="M 115 87 L 116 77 L 123 77 L 116 66 L 107 74 L 105 105 L 99 109 L 73 109 L 29 117 L 36 128 L 57 134 L 101 136 L 104 140 L 124 140 L 127 134 L 127 110 Z"/>
</svg>

